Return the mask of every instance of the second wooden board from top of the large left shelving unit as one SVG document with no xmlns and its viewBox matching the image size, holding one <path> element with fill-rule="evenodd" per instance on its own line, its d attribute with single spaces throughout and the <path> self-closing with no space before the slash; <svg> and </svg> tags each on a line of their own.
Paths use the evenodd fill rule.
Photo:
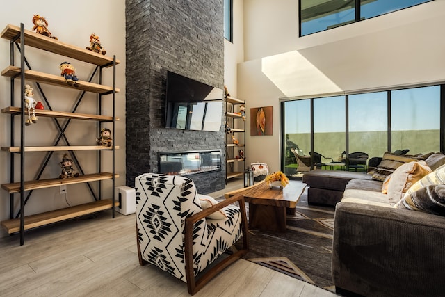
<svg viewBox="0 0 445 297">
<path fill-rule="evenodd" d="M 21 73 L 20 67 L 8 66 L 2 72 L 3 77 L 17 77 Z M 70 88 L 74 90 L 85 90 L 87 92 L 97 93 L 97 94 L 110 94 L 113 93 L 113 87 L 99 85 L 97 83 L 89 83 L 88 81 L 79 81 L 79 86 L 70 86 L 67 84 L 65 78 L 60 75 L 48 74 L 44 72 L 38 72 L 35 70 L 25 70 L 25 79 L 30 81 L 37 81 L 39 83 L 47 83 L 49 85 L 60 86 L 63 88 Z M 116 88 L 116 93 L 119 89 Z"/>
</svg>

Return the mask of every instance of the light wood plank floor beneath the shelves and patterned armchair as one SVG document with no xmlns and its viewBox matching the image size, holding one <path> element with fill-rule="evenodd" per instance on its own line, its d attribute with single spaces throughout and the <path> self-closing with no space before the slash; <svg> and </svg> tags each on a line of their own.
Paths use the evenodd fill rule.
<svg viewBox="0 0 445 297">
<path fill-rule="evenodd" d="M 184 282 L 139 265 L 134 215 L 102 211 L 26 232 L 24 246 L 18 235 L 0 239 L 0 296 L 189 295 Z M 241 259 L 195 296 L 337 295 Z"/>
</svg>

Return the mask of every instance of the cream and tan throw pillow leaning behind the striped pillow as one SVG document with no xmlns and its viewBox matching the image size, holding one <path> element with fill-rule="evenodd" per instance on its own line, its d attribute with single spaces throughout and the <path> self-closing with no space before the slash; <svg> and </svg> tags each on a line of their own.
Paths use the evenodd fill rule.
<svg viewBox="0 0 445 297">
<path fill-rule="evenodd" d="M 388 182 L 388 200 L 391 204 L 399 202 L 406 191 L 432 170 L 426 165 L 425 161 L 410 162 L 399 166 Z"/>
</svg>

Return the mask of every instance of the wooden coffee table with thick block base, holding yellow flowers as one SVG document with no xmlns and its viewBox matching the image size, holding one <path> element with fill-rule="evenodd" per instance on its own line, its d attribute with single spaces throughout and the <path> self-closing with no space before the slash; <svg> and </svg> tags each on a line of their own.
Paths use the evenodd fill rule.
<svg viewBox="0 0 445 297">
<path fill-rule="evenodd" d="M 295 212 L 295 207 L 305 191 L 306 184 L 290 181 L 283 190 L 270 189 L 268 183 L 261 181 L 248 188 L 225 194 L 225 198 L 241 193 L 245 202 L 249 202 L 250 229 L 275 232 L 286 231 L 286 210 Z"/>
</svg>

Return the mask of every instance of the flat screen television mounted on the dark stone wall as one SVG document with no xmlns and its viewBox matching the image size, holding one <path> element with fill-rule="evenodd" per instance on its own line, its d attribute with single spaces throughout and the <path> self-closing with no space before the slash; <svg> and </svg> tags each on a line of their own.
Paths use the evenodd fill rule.
<svg viewBox="0 0 445 297">
<path fill-rule="evenodd" d="M 220 131 L 224 91 L 167 72 L 165 127 L 200 131 Z"/>
</svg>

